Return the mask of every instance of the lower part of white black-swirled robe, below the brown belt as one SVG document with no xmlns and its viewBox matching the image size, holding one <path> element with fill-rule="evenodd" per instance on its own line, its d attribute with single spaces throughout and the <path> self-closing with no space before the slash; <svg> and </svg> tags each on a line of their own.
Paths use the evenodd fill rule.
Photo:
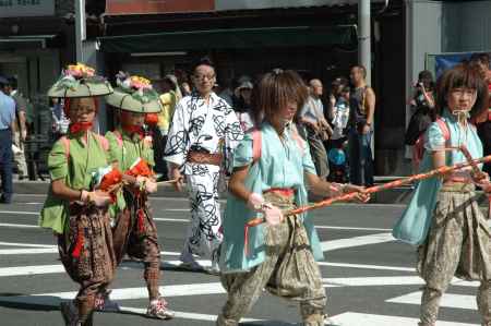
<svg viewBox="0 0 491 326">
<path fill-rule="evenodd" d="M 184 242 L 184 252 L 211 257 L 223 240 L 221 216 L 218 202 L 219 167 L 191 165 L 187 174 L 191 204 L 191 225 Z"/>
</svg>

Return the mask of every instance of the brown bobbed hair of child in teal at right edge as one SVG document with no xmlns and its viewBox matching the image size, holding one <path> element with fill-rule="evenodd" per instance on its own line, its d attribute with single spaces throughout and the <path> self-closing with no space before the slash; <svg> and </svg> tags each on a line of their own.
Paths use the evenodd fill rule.
<svg viewBox="0 0 491 326">
<path fill-rule="evenodd" d="M 469 63 L 459 63 L 445 71 L 436 82 L 436 114 L 442 114 L 448 105 L 447 98 L 451 90 L 457 87 L 466 87 L 477 92 L 476 104 L 470 109 L 471 118 L 476 118 L 488 110 L 489 94 L 484 80 L 479 71 Z"/>
</svg>

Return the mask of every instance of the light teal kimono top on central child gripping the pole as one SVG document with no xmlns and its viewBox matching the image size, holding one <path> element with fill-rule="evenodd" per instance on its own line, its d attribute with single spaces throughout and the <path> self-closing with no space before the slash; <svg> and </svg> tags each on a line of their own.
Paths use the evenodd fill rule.
<svg viewBox="0 0 491 326">
<path fill-rule="evenodd" d="M 315 167 L 307 143 L 299 145 L 292 137 L 292 130 L 285 131 L 282 143 L 274 128 L 268 123 L 261 126 L 261 157 L 253 162 L 252 134 L 248 133 L 233 153 L 233 168 L 250 166 L 246 186 L 254 193 L 262 194 L 271 188 L 296 190 L 296 204 L 308 204 L 304 173 L 315 174 Z M 244 253 L 244 226 L 259 214 L 249 209 L 242 200 L 228 195 L 223 220 L 224 241 L 221 243 L 220 269 L 223 273 L 248 271 L 265 259 L 264 227 L 249 230 L 248 255 Z M 324 258 L 318 233 L 307 214 L 301 216 L 309 236 L 314 258 Z"/>
</svg>

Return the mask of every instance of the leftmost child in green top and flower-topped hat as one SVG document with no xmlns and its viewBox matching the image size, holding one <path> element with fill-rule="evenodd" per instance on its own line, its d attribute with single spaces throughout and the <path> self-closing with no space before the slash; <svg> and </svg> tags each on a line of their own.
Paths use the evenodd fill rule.
<svg viewBox="0 0 491 326">
<path fill-rule="evenodd" d="M 71 124 L 48 157 L 51 186 L 39 224 L 55 232 L 61 262 L 80 283 L 75 300 L 61 303 L 61 313 L 70 326 L 92 325 L 95 298 L 112 280 L 116 269 L 109 189 L 94 190 L 92 185 L 92 176 L 99 176 L 100 181 L 110 165 L 107 141 L 91 131 L 97 112 L 95 96 L 110 93 L 109 83 L 83 64 L 69 65 L 48 93 L 64 98 Z"/>
</svg>

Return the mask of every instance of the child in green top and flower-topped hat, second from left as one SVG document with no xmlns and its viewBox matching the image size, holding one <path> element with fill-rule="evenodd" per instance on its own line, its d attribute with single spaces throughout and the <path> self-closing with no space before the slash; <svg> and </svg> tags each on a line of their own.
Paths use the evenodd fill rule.
<svg viewBox="0 0 491 326">
<path fill-rule="evenodd" d="M 144 279 L 149 297 L 146 314 L 169 319 L 173 313 L 167 309 L 167 302 L 158 292 L 160 249 L 147 198 L 148 193 L 157 191 L 152 171 L 154 153 L 151 138 L 143 133 L 145 114 L 159 112 L 161 107 L 158 94 L 147 80 L 120 73 L 117 83 L 119 87 L 107 97 L 107 102 L 119 108 L 120 126 L 108 132 L 106 137 L 109 141 L 109 156 L 123 171 L 127 185 L 123 188 L 125 208 L 116 212 L 115 216 L 115 253 L 118 264 L 125 253 L 144 262 Z M 118 207 L 115 208 L 118 210 Z"/>
</svg>

